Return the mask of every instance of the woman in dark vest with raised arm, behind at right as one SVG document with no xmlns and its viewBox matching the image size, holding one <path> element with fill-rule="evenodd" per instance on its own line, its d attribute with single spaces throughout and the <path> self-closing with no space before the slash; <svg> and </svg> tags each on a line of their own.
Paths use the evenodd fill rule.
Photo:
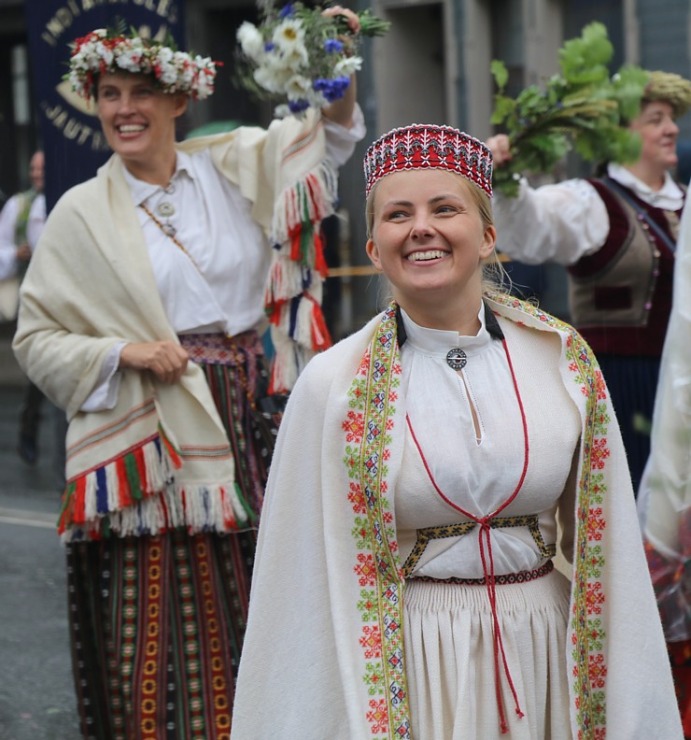
<svg viewBox="0 0 691 740">
<path fill-rule="evenodd" d="M 641 138 L 637 161 L 609 163 L 603 176 L 498 194 L 497 248 L 528 264 L 567 268 L 570 320 L 607 378 L 621 424 L 634 492 L 650 452 L 660 356 L 672 305 L 674 249 L 685 190 L 677 164 L 676 119 L 691 106 L 691 81 L 651 72 L 629 128 Z M 496 167 L 509 139 L 491 137 Z"/>
</svg>

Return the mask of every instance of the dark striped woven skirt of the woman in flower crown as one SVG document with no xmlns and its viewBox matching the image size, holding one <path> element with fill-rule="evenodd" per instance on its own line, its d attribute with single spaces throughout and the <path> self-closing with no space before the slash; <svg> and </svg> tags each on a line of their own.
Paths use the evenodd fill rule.
<svg viewBox="0 0 691 740">
<path fill-rule="evenodd" d="M 206 374 L 258 517 L 280 414 L 251 408 L 267 385 L 255 332 L 181 337 Z M 67 549 L 82 735 L 95 740 L 230 736 L 256 531 L 111 537 Z"/>
</svg>

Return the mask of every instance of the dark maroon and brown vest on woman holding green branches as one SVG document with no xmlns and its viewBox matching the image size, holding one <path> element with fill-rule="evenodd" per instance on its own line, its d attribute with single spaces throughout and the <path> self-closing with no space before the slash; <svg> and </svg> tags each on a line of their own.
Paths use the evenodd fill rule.
<svg viewBox="0 0 691 740">
<path fill-rule="evenodd" d="M 662 354 L 672 308 L 674 253 L 605 180 L 589 180 L 602 198 L 610 231 L 602 249 L 568 268 L 571 322 L 596 354 Z M 624 190 L 676 242 L 680 211 L 654 208 Z"/>
</svg>

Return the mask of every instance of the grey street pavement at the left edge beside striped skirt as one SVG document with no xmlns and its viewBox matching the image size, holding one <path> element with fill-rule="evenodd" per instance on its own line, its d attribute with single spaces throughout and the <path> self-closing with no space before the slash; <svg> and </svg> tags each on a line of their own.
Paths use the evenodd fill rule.
<svg viewBox="0 0 691 740">
<path fill-rule="evenodd" d="M 35 467 L 16 453 L 23 379 L 0 337 L 0 738 L 78 740 L 53 418 Z"/>
</svg>

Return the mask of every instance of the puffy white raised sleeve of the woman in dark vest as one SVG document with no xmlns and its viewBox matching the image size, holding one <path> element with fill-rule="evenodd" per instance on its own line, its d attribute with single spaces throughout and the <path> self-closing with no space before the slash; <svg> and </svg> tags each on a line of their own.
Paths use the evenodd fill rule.
<svg viewBox="0 0 691 740">
<path fill-rule="evenodd" d="M 495 195 L 493 210 L 497 249 L 533 265 L 572 265 L 597 252 L 610 228 L 602 198 L 583 179 L 539 188 L 523 179 L 518 197 Z"/>
</svg>

